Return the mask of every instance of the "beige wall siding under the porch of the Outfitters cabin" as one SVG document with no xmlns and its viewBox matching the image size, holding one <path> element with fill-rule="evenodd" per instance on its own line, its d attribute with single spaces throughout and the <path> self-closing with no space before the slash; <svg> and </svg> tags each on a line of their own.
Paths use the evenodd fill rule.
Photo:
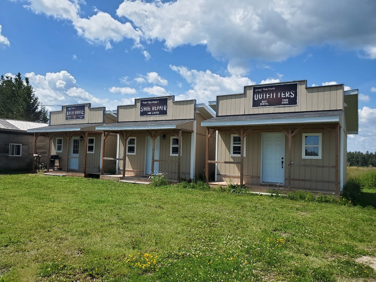
<svg viewBox="0 0 376 282">
<path fill-rule="evenodd" d="M 292 139 L 291 147 L 291 187 L 312 191 L 335 191 L 335 136 L 320 125 L 310 125 L 312 129 L 300 130 Z M 335 125 L 331 125 L 332 130 Z M 272 127 L 259 127 L 252 130 L 246 137 L 246 157 L 244 158 L 244 182 L 259 185 L 261 177 L 261 133 L 278 132 Z M 322 133 L 322 158 L 302 158 L 302 134 Z M 219 131 L 218 161 L 240 162 L 240 157 L 230 156 L 230 135 L 233 131 Z M 288 138 L 285 137 L 285 159 L 288 162 Z M 240 179 L 240 164 L 218 164 L 217 180 L 238 182 Z M 287 186 L 288 167 L 285 167 L 285 186 Z"/>
</svg>

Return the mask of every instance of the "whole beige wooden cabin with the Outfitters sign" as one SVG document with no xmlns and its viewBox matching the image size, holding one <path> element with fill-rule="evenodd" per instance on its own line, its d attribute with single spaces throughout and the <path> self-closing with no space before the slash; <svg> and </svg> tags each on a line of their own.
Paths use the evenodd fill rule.
<svg viewBox="0 0 376 282">
<path fill-rule="evenodd" d="M 358 133 L 358 90 L 307 87 L 306 80 L 245 86 L 209 102 L 202 121 L 216 138 L 215 183 L 339 194 L 346 183 L 347 134 Z M 208 141 L 207 141 L 208 143 Z"/>
</svg>

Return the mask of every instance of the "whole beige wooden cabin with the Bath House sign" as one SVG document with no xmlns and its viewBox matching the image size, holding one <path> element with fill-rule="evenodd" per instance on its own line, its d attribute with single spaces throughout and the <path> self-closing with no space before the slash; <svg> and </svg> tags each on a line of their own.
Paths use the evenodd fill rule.
<svg viewBox="0 0 376 282">
<path fill-rule="evenodd" d="M 91 104 L 66 105 L 61 111 L 50 112 L 49 126 L 29 129 L 34 133 L 35 146 L 40 136 L 49 139 L 47 170 L 54 173 L 85 176 L 100 174 L 102 169 L 115 170 L 115 162 L 102 165 L 102 131 L 96 126 L 116 122 L 116 115 L 105 107 L 91 108 Z M 108 136 L 116 144 L 116 135 Z M 34 149 L 35 151 L 35 149 Z M 116 146 L 104 147 L 104 152 L 115 156 Z"/>
</svg>

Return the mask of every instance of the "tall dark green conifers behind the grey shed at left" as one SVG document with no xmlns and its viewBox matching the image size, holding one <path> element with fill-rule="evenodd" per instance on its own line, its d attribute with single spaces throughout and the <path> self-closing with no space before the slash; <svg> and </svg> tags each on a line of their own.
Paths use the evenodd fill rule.
<svg viewBox="0 0 376 282">
<path fill-rule="evenodd" d="M 0 118 L 48 122 L 47 110 L 39 103 L 28 77 L 23 80 L 20 73 L 0 77 Z"/>
</svg>

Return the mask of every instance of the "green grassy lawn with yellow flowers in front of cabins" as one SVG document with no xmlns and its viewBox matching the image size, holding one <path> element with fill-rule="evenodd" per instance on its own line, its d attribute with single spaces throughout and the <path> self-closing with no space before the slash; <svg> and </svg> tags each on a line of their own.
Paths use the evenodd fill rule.
<svg viewBox="0 0 376 282">
<path fill-rule="evenodd" d="M 374 281 L 376 210 L 341 202 L 0 175 L 0 281 Z"/>
</svg>

